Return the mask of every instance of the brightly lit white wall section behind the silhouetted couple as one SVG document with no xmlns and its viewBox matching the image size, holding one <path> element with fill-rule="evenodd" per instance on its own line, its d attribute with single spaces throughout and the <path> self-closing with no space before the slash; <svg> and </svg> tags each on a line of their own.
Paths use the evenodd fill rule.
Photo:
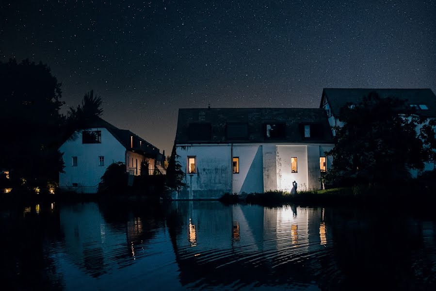
<svg viewBox="0 0 436 291">
<path fill-rule="evenodd" d="M 297 173 L 291 173 L 291 157 L 297 157 Z M 276 162 L 278 190 L 291 191 L 292 181 L 297 182 L 297 190 L 306 190 L 310 187 L 307 173 L 307 146 L 277 146 Z"/>
</svg>

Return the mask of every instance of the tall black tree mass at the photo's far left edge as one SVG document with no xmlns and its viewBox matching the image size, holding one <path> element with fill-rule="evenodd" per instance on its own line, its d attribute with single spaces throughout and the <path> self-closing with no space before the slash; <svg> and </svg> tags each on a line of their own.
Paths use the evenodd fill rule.
<svg viewBox="0 0 436 291">
<path fill-rule="evenodd" d="M 0 62 L 0 167 L 11 178 L 42 186 L 63 170 L 58 151 L 61 83 L 47 65 L 15 59 Z"/>
</svg>

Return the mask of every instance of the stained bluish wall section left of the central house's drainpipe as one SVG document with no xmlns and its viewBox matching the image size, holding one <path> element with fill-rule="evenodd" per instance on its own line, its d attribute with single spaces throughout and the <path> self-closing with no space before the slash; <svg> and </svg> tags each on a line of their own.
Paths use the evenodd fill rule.
<svg viewBox="0 0 436 291">
<path fill-rule="evenodd" d="M 189 186 L 175 199 L 218 199 L 232 191 L 230 145 L 177 146 L 178 162 Z M 188 156 L 196 157 L 196 173 L 188 173 Z"/>
</svg>

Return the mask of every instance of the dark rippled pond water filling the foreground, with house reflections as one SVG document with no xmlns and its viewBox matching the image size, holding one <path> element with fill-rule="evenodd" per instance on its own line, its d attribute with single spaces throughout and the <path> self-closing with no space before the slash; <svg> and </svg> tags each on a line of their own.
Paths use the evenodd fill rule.
<svg viewBox="0 0 436 291">
<path fill-rule="evenodd" d="M 15 207 L 1 210 L 2 286 L 436 290 L 436 222 L 419 212 L 200 201 Z"/>
</svg>

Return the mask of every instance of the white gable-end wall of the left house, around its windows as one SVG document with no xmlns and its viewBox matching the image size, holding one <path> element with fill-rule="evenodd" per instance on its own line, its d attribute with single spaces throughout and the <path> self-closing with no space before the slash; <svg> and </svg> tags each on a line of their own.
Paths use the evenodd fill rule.
<svg viewBox="0 0 436 291">
<path fill-rule="evenodd" d="M 96 186 L 106 168 L 113 162 L 125 162 L 126 149 L 105 128 L 101 130 L 101 144 L 82 144 L 81 130 L 75 140 L 67 140 L 59 150 L 64 153 L 65 173 L 59 173 L 59 186 Z M 77 166 L 72 166 L 72 157 L 77 157 Z M 104 156 L 104 166 L 98 165 L 98 156 Z"/>
</svg>

